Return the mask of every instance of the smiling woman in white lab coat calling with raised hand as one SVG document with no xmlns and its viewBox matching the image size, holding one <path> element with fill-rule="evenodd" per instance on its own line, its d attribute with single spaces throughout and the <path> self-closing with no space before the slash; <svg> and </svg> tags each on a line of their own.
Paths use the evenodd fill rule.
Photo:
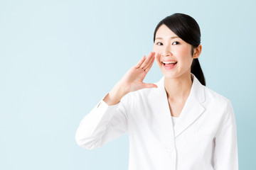
<svg viewBox="0 0 256 170">
<path fill-rule="evenodd" d="M 200 28 L 191 16 L 164 18 L 154 31 L 153 52 L 83 118 L 78 145 L 101 147 L 129 132 L 129 170 L 238 169 L 233 107 L 205 86 L 200 43 Z M 154 60 L 164 76 L 145 84 Z"/>
</svg>

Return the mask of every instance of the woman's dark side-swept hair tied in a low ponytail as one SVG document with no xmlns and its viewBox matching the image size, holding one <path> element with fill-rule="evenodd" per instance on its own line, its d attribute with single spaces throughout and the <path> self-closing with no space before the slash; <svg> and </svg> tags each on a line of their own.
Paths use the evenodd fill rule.
<svg viewBox="0 0 256 170">
<path fill-rule="evenodd" d="M 166 18 L 159 22 L 154 30 L 154 42 L 156 38 L 156 31 L 163 24 L 178 35 L 179 38 L 192 46 L 191 54 L 193 56 L 193 49 L 198 47 L 201 43 L 201 32 L 196 20 L 184 13 L 174 13 L 171 16 L 166 16 Z M 201 84 L 206 86 L 206 79 L 203 76 L 203 71 L 198 58 L 193 59 L 191 64 L 191 73 L 196 76 Z"/>
</svg>

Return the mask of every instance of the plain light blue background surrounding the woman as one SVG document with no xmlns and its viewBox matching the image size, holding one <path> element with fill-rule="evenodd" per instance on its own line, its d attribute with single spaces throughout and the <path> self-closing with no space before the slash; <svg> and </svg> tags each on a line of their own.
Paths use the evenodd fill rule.
<svg viewBox="0 0 256 170">
<path fill-rule="evenodd" d="M 206 85 L 233 103 L 240 169 L 256 169 L 254 1 L 0 2 L 0 169 L 127 169 L 128 135 L 92 150 L 80 120 L 153 47 L 162 18 L 201 27 Z M 162 74 L 154 63 L 146 82 Z"/>
</svg>

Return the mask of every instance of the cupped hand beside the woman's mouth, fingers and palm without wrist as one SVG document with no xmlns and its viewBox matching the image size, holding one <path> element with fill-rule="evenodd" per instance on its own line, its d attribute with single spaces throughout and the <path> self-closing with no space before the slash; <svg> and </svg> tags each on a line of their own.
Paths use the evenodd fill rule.
<svg viewBox="0 0 256 170">
<path fill-rule="evenodd" d="M 144 88 L 157 88 L 156 84 L 146 84 L 143 82 L 146 74 L 154 63 L 154 55 L 155 52 L 149 52 L 149 55 L 146 58 L 144 55 L 134 67 L 124 74 L 124 77 L 122 77 L 119 83 L 122 84 L 126 93 Z"/>
</svg>

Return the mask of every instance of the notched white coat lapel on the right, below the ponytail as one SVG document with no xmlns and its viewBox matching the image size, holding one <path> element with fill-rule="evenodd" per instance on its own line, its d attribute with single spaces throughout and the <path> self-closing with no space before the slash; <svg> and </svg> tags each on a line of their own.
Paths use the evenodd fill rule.
<svg viewBox="0 0 256 170">
<path fill-rule="evenodd" d="M 174 135 L 177 137 L 189 127 L 205 110 L 201 103 L 205 101 L 203 85 L 193 76 L 191 92 L 181 111 L 178 121 L 174 127 Z"/>
</svg>

